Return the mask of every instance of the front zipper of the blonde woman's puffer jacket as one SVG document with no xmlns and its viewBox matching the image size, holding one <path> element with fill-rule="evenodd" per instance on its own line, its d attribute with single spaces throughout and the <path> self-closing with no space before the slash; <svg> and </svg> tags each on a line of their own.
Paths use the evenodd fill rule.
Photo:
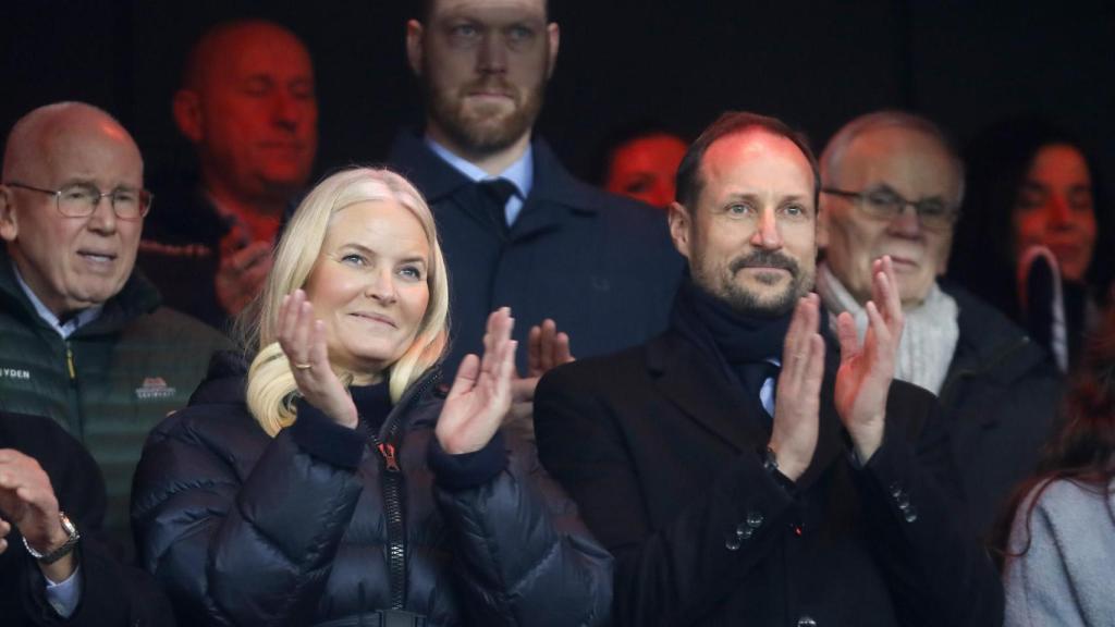
<svg viewBox="0 0 1115 627">
<path fill-rule="evenodd" d="M 429 373 L 399 399 L 398 405 L 388 414 L 379 428 L 378 435 L 372 435 L 372 442 L 384 460 L 384 472 L 380 480 L 384 488 L 384 509 L 387 519 L 387 563 L 390 579 L 391 609 L 401 610 L 407 601 L 407 536 L 406 520 L 403 515 L 403 469 L 399 465 L 399 430 L 401 417 L 407 414 L 409 405 L 416 403 L 438 380 L 437 372 Z"/>
</svg>

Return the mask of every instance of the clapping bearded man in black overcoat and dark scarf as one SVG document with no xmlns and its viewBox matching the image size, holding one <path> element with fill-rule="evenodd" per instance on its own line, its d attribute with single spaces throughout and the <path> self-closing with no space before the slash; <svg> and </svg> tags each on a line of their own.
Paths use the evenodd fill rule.
<svg viewBox="0 0 1115 627">
<path fill-rule="evenodd" d="M 873 263 L 863 341 L 813 286 L 820 176 L 783 123 L 724 115 L 678 170 L 670 328 L 539 385 L 546 469 L 617 559 L 617 625 L 998 625 L 928 392 L 892 382 Z"/>
</svg>

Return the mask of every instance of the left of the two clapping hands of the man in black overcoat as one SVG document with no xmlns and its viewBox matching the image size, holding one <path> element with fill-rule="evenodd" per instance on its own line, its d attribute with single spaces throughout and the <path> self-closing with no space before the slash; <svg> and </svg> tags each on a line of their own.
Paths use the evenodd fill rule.
<svg viewBox="0 0 1115 627">
<path fill-rule="evenodd" d="M 797 481 L 809 467 L 817 446 L 825 369 L 825 343 L 817 331 L 820 318 L 817 295 L 803 297 L 794 309 L 783 345 L 769 446 L 778 471 L 792 481 Z"/>
</svg>

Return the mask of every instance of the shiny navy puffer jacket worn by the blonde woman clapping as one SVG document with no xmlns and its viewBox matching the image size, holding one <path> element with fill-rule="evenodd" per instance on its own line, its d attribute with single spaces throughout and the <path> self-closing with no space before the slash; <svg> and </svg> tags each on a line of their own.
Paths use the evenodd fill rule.
<svg viewBox="0 0 1115 627">
<path fill-rule="evenodd" d="M 454 473 L 432 470 L 463 456 L 430 446 L 442 407 L 430 374 L 353 450 L 352 430 L 304 403 L 268 437 L 242 376 L 221 370 L 152 433 L 136 475 L 140 558 L 181 624 L 607 621 L 611 558 L 533 446 L 497 436 L 474 453 L 500 460 L 478 486 L 448 488 Z"/>
</svg>

